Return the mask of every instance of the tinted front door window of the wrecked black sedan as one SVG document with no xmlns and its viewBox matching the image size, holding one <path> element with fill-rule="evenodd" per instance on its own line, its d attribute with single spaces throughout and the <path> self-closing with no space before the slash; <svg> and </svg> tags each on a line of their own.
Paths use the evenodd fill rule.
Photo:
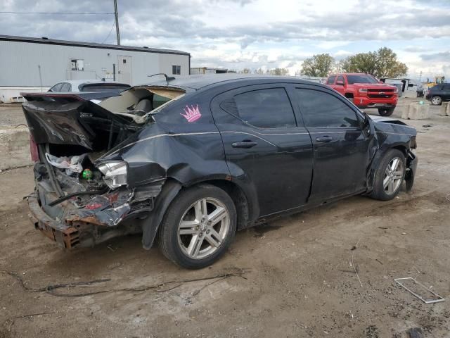
<svg viewBox="0 0 450 338">
<path fill-rule="evenodd" d="M 356 113 L 337 97 L 314 89 L 295 89 L 305 127 L 357 127 Z"/>
</svg>

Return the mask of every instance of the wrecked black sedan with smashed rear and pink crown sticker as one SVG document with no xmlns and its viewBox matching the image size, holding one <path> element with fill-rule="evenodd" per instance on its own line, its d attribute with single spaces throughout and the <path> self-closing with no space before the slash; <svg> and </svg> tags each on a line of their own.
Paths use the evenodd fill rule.
<svg viewBox="0 0 450 338">
<path fill-rule="evenodd" d="M 356 194 L 411 189 L 416 130 L 322 84 L 198 75 L 100 104 L 27 96 L 36 229 L 65 248 L 142 232 L 202 268 L 236 230 Z"/>
</svg>

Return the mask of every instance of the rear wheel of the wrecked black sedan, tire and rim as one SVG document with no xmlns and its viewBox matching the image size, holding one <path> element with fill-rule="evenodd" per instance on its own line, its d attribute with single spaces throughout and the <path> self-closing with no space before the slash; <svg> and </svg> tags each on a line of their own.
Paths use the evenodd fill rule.
<svg viewBox="0 0 450 338">
<path fill-rule="evenodd" d="M 236 207 L 224 190 L 200 184 L 176 196 L 158 232 L 162 253 L 183 268 L 217 261 L 236 232 Z"/>
</svg>

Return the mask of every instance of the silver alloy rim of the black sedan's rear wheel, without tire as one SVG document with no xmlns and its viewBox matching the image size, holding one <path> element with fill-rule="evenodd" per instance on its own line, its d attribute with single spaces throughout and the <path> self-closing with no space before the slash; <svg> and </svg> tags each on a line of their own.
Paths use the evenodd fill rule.
<svg viewBox="0 0 450 338">
<path fill-rule="evenodd" d="M 226 206 L 218 199 L 199 199 L 181 218 L 178 243 L 189 258 L 205 258 L 219 249 L 229 229 L 230 216 Z"/>
</svg>

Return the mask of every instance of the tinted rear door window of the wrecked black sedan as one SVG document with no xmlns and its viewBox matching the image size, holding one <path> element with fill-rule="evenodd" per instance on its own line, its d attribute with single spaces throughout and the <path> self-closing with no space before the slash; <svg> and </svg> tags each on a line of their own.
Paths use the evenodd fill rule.
<svg viewBox="0 0 450 338">
<path fill-rule="evenodd" d="M 296 125 L 293 108 L 283 88 L 258 89 L 237 94 L 233 99 L 237 108 L 234 113 L 250 125 L 276 129 L 286 129 Z M 227 106 L 230 105 L 227 104 Z M 229 109 L 225 110 L 229 111 Z"/>
</svg>

